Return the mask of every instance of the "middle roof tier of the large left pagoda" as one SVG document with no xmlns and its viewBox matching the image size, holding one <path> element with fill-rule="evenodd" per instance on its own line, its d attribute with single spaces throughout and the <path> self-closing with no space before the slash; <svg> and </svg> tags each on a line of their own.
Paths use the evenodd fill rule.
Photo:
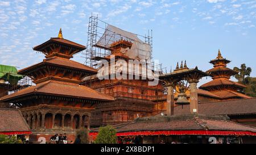
<svg viewBox="0 0 256 155">
<path fill-rule="evenodd" d="M 81 64 L 76 61 L 69 60 L 68 58 L 61 58 L 61 57 L 50 57 L 43 60 L 43 62 L 40 62 L 35 65 L 28 66 L 27 68 L 19 70 L 19 74 L 26 74 L 29 72 L 29 70 L 38 68 L 38 66 L 43 64 L 51 64 L 51 65 L 57 65 L 62 66 L 65 68 L 71 68 L 71 69 L 77 69 L 77 70 L 84 70 L 86 72 L 90 72 L 93 74 L 97 74 L 97 69 L 91 68 L 89 66 L 86 66 L 84 64 Z"/>
</svg>

